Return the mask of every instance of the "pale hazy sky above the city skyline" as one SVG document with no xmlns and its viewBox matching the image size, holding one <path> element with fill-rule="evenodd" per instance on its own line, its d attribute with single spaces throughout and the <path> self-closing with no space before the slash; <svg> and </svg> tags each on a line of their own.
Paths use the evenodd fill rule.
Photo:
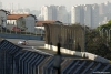
<svg viewBox="0 0 111 74">
<path fill-rule="evenodd" d="M 10 8 L 13 3 L 13 8 L 29 8 L 40 10 L 42 6 L 65 6 L 70 10 L 72 6 L 75 4 L 92 4 L 92 3 L 103 3 L 111 0 L 0 0 L 4 8 Z"/>
</svg>

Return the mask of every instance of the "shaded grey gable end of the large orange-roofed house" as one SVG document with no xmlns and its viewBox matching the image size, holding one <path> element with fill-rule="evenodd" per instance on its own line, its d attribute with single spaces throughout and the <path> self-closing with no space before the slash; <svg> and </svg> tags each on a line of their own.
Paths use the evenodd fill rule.
<svg viewBox="0 0 111 74">
<path fill-rule="evenodd" d="M 21 17 L 17 20 L 17 27 L 20 29 L 24 29 L 26 32 L 34 32 L 36 27 L 36 17 L 29 14 L 27 17 Z"/>
</svg>

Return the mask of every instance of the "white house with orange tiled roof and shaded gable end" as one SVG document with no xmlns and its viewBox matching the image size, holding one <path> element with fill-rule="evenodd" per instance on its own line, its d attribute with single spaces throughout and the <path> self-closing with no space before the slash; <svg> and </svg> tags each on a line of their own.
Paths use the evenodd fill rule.
<svg viewBox="0 0 111 74">
<path fill-rule="evenodd" d="M 27 32 L 34 32 L 36 17 L 32 14 L 9 14 L 7 15 L 7 24 L 9 27 L 18 27 L 20 29 L 26 29 Z"/>
</svg>

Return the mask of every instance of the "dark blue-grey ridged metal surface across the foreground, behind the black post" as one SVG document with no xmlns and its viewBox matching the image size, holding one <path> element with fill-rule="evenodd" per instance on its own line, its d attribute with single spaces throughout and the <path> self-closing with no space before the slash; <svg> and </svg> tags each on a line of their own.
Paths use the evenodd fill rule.
<svg viewBox="0 0 111 74">
<path fill-rule="evenodd" d="M 0 74 L 56 74 L 53 62 L 52 55 L 24 51 L 7 40 L 0 43 L 0 66 L 2 66 Z M 111 65 L 91 60 L 62 57 L 62 74 L 92 74 L 93 72 L 110 74 Z"/>
</svg>

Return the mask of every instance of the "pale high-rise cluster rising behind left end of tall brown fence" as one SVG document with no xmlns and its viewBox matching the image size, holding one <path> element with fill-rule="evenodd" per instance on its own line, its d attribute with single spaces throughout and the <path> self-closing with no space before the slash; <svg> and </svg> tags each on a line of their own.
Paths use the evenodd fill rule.
<svg viewBox="0 0 111 74">
<path fill-rule="evenodd" d="M 40 19 L 43 20 L 56 20 L 63 23 L 68 23 L 68 12 L 64 6 L 43 6 L 41 8 Z"/>
</svg>

